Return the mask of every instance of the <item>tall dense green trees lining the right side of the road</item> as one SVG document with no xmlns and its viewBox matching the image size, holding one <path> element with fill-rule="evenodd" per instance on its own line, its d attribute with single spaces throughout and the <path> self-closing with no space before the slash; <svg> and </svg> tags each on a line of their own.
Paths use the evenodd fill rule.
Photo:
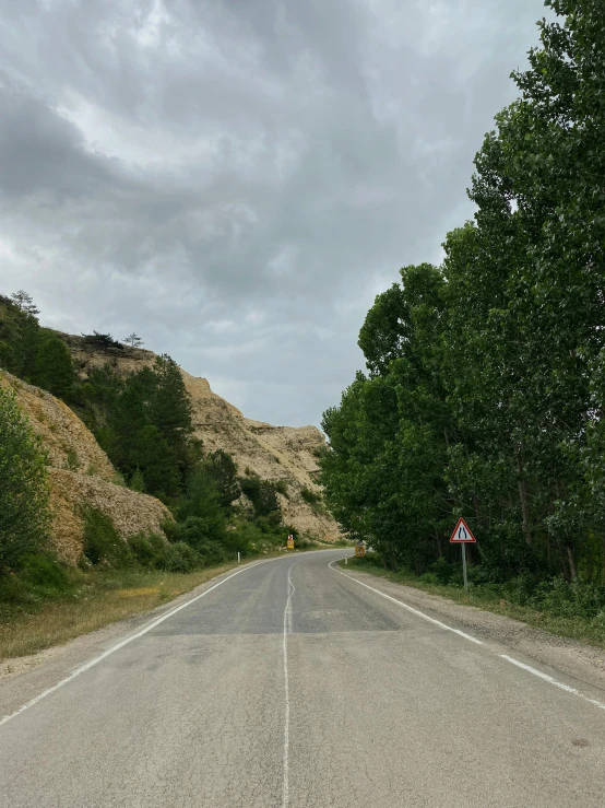
<svg viewBox="0 0 605 808">
<path fill-rule="evenodd" d="M 327 500 L 392 569 L 447 567 L 463 515 L 477 581 L 603 581 L 605 16 L 547 4 L 476 156 L 474 221 L 378 295 L 367 373 L 324 413 Z"/>
</svg>

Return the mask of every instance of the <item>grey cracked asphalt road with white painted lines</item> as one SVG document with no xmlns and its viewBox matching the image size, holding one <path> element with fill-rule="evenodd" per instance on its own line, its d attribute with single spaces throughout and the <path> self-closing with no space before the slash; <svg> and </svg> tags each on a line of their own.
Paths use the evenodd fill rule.
<svg viewBox="0 0 605 808">
<path fill-rule="evenodd" d="M 594 693 L 329 569 L 342 555 L 212 583 L 2 724 L 0 806 L 603 808 Z"/>
</svg>

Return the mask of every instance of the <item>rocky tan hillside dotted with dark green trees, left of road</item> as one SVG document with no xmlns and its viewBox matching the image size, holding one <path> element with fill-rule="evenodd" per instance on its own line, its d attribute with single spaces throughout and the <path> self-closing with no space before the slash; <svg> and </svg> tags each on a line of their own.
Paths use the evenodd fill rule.
<svg viewBox="0 0 605 808">
<path fill-rule="evenodd" d="M 111 564 L 123 561 L 122 546 L 132 557 L 150 541 L 156 550 L 143 554 L 164 558 L 168 539 L 179 548 L 176 565 L 187 566 L 190 551 L 197 564 L 214 563 L 284 544 L 288 532 L 299 544 L 337 538 L 312 479 L 318 430 L 248 421 L 205 379 L 140 348 L 137 335 L 128 344 L 97 331 L 63 335 L 38 315 L 22 290 L 0 298 L 0 391 L 12 419 L 0 441 L 0 484 L 17 484 L 16 442 L 31 492 L 23 507 L 39 506 L 26 529 L 26 508 L 5 515 L 16 527 L 0 544 L 23 541 L 0 550 L 0 578 L 50 547 L 69 563 Z M 39 469 L 29 482 L 27 465 Z"/>
</svg>

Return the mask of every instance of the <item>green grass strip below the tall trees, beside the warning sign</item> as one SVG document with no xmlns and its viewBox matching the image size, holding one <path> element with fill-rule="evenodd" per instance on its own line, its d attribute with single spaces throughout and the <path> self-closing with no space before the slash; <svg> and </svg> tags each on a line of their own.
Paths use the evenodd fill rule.
<svg viewBox="0 0 605 808">
<path fill-rule="evenodd" d="M 341 561 L 340 565 L 344 567 L 344 561 Z M 500 594 L 495 594 L 487 588 L 474 586 L 473 584 L 470 584 L 468 595 L 465 595 L 461 586 L 424 582 L 408 571 L 391 572 L 381 566 L 372 558 L 348 559 L 346 569 L 367 572 L 371 575 L 403 584 L 404 586 L 412 586 L 430 595 L 450 598 L 463 606 L 474 606 L 484 611 L 520 620 L 527 625 L 542 629 L 549 634 L 580 640 L 590 645 L 605 648 L 605 620 L 601 618 L 589 618 L 581 614 L 564 616 L 549 610 L 520 606 L 510 602 L 510 600 L 507 600 Z"/>
</svg>

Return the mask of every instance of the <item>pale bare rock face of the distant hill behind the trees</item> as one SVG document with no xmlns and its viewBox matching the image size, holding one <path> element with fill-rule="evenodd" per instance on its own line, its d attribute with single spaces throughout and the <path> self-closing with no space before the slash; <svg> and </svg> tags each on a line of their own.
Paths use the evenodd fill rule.
<svg viewBox="0 0 605 808">
<path fill-rule="evenodd" d="M 138 348 L 91 344 L 81 337 L 59 335 L 69 346 L 78 373 L 85 378 L 92 368 L 109 363 L 120 374 L 153 365 L 156 354 Z M 340 538 L 339 527 L 320 502 L 308 502 L 304 494 L 321 493 L 316 482 L 319 470 L 316 453 L 325 445 L 315 426 L 272 426 L 252 421 L 232 403 L 212 391 L 205 378 L 181 370 L 191 398 L 194 435 L 205 450 L 224 449 L 241 476 L 254 473 L 281 481 L 286 494 L 278 494 L 284 522 L 301 534 L 327 541 Z"/>
</svg>

